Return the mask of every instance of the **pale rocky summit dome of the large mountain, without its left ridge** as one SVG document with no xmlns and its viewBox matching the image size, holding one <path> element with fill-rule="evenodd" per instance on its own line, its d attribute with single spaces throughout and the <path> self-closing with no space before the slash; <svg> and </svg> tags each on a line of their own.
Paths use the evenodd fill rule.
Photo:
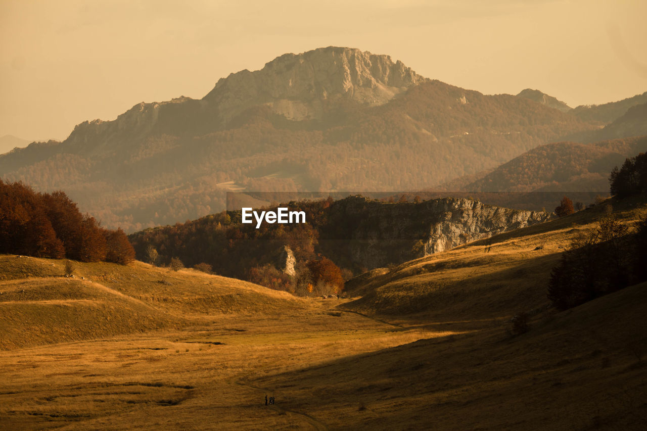
<svg viewBox="0 0 647 431">
<path fill-rule="evenodd" d="M 322 115 L 327 101 L 347 98 L 382 105 L 424 80 L 389 56 L 327 47 L 284 54 L 259 71 L 232 73 L 203 100 L 228 116 L 261 103 L 290 120 L 305 120 Z"/>
</svg>

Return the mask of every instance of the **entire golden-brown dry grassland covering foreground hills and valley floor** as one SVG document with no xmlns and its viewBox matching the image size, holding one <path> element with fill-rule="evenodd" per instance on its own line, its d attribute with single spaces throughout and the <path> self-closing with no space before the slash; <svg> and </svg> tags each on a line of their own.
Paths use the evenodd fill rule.
<svg viewBox="0 0 647 431">
<path fill-rule="evenodd" d="M 647 429 L 647 284 L 562 313 L 546 299 L 602 214 L 373 271 L 351 300 L 0 256 L 0 428 Z"/>
</svg>

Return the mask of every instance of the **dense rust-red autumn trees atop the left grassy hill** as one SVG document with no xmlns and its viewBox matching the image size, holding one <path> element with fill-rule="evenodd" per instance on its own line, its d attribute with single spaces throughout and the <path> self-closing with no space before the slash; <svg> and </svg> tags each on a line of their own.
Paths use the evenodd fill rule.
<svg viewBox="0 0 647 431">
<path fill-rule="evenodd" d="M 135 250 L 124 231 L 100 227 L 63 192 L 36 193 L 0 180 L 0 253 L 126 264 Z"/>
</svg>

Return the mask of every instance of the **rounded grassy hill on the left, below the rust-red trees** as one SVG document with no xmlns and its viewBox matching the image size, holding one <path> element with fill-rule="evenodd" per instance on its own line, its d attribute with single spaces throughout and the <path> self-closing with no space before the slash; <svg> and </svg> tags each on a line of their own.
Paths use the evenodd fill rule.
<svg viewBox="0 0 647 431">
<path fill-rule="evenodd" d="M 179 328 L 237 313 L 303 308 L 290 294 L 203 272 L 135 262 L 75 263 L 0 256 L 0 349 Z"/>
</svg>

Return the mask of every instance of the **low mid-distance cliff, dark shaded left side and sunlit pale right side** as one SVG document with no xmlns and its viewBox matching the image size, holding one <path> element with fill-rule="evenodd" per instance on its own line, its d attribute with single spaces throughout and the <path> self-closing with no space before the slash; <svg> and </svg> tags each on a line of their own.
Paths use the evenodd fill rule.
<svg viewBox="0 0 647 431">
<path fill-rule="evenodd" d="M 336 232 L 338 238 L 329 233 L 322 238 L 350 238 L 351 260 L 367 269 L 421 258 L 553 217 L 463 198 L 388 204 L 349 197 L 334 203 L 333 214 L 331 226 L 345 220 L 348 230 Z"/>
</svg>

